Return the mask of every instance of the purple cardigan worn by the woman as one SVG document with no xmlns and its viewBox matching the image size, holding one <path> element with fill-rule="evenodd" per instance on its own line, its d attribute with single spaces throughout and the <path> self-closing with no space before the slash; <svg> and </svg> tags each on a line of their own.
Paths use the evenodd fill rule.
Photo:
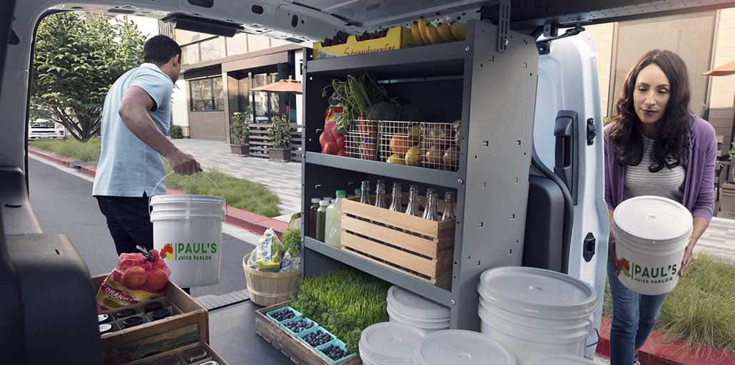
<svg viewBox="0 0 735 365">
<path fill-rule="evenodd" d="M 610 140 L 610 127 L 605 126 L 605 201 L 610 209 L 623 200 L 625 167 L 617 164 L 619 153 Z M 689 159 L 684 179 L 684 201 L 694 217 L 707 222 L 714 211 L 714 164 L 717 158 L 717 138 L 711 124 L 692 114 L 689 132 Z"/>
</svg>

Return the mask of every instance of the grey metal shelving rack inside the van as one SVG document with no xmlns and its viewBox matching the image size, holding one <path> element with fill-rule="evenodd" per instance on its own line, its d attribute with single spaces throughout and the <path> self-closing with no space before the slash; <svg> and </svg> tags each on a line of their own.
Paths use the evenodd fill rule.
<svg viewBox="0 0 735 365">
<path fill-rule="evenodd" d="M 528 203 L 538 53 L 535 40 L 509 32 L 498 51 L 497 27 L 467 24 L 467 40 L 304 63 L 302 209 L 313 197 L 392 178 L 456 191 L 457 226 L 450 290 L 304 237 L 304 275 L 348 266 L 451 308 L 451 327 L 478 330 L 477 283 L 484 270 L 520 265 Z M 310 50 L 305 50 L 311 54 Z M 392 96 L 419 106 L 427 120 L 462 120 L 459 170 L 431 170 L 319 153 L 331 79 L 368 71 Z M 359 187 L 359 186 L 355 186 Z M 308 217 L 304 217 L 304 229 Z"/>
</svg>

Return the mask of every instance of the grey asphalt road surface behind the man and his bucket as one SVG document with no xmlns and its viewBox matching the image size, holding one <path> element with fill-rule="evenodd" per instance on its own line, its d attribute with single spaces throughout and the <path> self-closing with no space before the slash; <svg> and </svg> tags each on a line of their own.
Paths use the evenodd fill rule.
<svg viewBox="0 0 735 365">
<path fill-rule="evenodd" d="M 92 182 L 35 159 L 29 158 L 28 165 L 31 204 L 43 231 L 68 236 L 91 275 L 115 268 L 115 244 L 91 195 Z M 220 282 L 192 288 L 194 297 L 245 289 L 242 260 L 254 245 L 227 234 L 222 240 Z"/>
</svg>

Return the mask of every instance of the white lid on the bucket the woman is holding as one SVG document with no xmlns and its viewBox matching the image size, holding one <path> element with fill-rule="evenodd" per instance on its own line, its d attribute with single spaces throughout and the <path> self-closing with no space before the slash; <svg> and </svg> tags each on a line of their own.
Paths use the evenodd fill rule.
<svg viewBox="0 0 735 365">
<path fill-rule="evenodd" d="M 665 244 L 688 238 L 692 213 L 674 200 L 639 196 L 620 203 L 613 214 L 614 225 L 639 240 Z"/>
</svg>

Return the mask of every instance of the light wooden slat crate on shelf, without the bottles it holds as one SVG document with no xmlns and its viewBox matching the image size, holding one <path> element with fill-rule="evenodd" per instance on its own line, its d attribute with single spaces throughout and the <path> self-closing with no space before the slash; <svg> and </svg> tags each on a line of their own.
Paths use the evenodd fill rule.
<svg viewBox="0 0 735 365">
<path fill-rule="evenodd" d="M 345 199 L 342 203 L 343 250 L 413 278 L 449 288 L 455 220 L 424 220 L 358 200 Z"/>
</svg>

